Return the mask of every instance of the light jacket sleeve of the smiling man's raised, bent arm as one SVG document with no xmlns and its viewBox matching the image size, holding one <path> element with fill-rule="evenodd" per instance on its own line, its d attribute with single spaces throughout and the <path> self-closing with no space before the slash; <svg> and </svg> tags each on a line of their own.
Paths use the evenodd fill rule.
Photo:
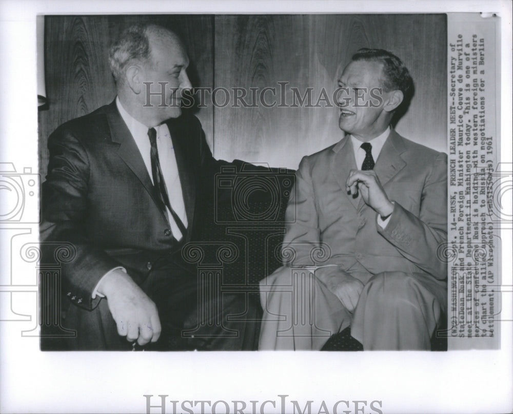
<svg viewBox="0 0 513 414">
<path fill-rule="evenodd" d="M 394 201 L 394 200 L 392 200 Z M 419 217 L 397 201 L 385 229 L 378 232 L 408 260 L 439 280 L 447 278 L 447 262 L 439 246 L 447 241 L 447 155 L 439 154 L 422 190 Z"/>
</svg>

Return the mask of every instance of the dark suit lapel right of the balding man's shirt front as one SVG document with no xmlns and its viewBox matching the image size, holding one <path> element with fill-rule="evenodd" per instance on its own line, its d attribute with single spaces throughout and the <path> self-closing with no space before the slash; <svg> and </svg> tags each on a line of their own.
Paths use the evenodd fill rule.
<svg viewBox="0 0 513 414">
<path fill-rule="evenodd" d="M 187 221 L 189 229 L 192 225 L 194 218 L 194 204 L 195 204 L 195 174 L 192 165 L 192 157 L 189 153 L 189 147 L 186 145 L 187 137 L 186 131 L 183 129 L 183 122 L 181 119 L 171 119 L 166 122 L 166 125 L 171 134 L 173 141 L 174 156 L 176 157 L 176 165 L 178 174 L 180 176 L 180 184 L 182 186 L 182 194 L 184 197 L 185 213 L 187 214 Z M 187 232 L 187 236 L 190 232 Z"/>
</svg>

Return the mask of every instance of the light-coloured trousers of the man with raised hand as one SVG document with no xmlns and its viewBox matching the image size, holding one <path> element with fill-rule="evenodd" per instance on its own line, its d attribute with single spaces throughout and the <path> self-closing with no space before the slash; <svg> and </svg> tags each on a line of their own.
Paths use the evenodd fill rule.
<svg viewBox="0 0 513 414">
<path fill-rule="evenodd" d="M 429 350 L 447 309 L 447 286 L 424 274 L 352 276 L 363 292 L 354 313 L 308 270 L 280 267 L 260 282 L 261 350 L 319 350 L 351 326 L 364 350 Z"/>
</svg>

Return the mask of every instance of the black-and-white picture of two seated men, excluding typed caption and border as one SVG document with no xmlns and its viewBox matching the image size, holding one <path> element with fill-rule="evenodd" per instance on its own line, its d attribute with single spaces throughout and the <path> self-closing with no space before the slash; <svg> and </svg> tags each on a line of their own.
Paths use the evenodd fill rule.
<svg viewBox="0 0 513 414">
<path fill-rule="evenodd" d="M 444 14 L 44 24 L 43 349 L 443 348 Z"/>
</svg>

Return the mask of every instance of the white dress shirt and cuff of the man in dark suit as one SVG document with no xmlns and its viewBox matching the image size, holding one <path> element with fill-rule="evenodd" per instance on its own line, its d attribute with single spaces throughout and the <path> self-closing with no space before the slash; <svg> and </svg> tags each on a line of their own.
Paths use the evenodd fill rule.
<svg viewBox="0 0 513 414">
<path fill-rule="evenodd" d="M 148 137 L 148 127 L 146 127 L 141 122 L 134 119 L 121 105 L 119 97 L 116 97 L 116 107 L 120 112 L 121 117 L 125 121 L 128 130 L 132 134 L 132 137 L 135 141 L 139 152 L 143 158 L 144 164 L 146 165 L 146 170 L 148 170 L 148 174 L 150 176 L 151 182 L 153 182 L 153 175 L 151 172 L 151 144 L 150 139 Z M 159 162 L 162 170 L 162 175 L 164 176 L 164 183 L 166 184 L 167 193 L 169 196 L 169 202 L 171 203 L 171 207 L 174 212 L 180 217 L 184 226 L 187 228 L 187 214 L 185 212 L 185 203 L 184 196 L 182 192 L 182 184 L 180 182 L 180 175 L 178 172 L 178 165 L 176 164 L 176 156 L 174 154 L 173 149 L 173 141 L 171 140 L 171 134 L 169 133 L 169 129 L 165 123 L 155 127 L 156 131 L 156 142 L 157 142 L 157 151 L 159 152 Z M 178 225 L 173 219 L 171 212 L 166 207 L 167 217 L 169 220 L 169 225 L 171 227 L 171 232 L 176 240 L 181 240 L 183 235 L 180 231 Z M 102 279 L 98 281 L 96 286 L 94 287 L 94 291 L 92 293 L 92 298 L 96 298 L 97 296 L 104 297 L 101 293 L 97 292 L 98 285 L 101 283 L 103 278 L 110 274 L 115 270 L 122 270 L 126 273 L 126 269 L 122 266 L 114 267 L 105 275 L 103 275 Z"/>
</svg>

